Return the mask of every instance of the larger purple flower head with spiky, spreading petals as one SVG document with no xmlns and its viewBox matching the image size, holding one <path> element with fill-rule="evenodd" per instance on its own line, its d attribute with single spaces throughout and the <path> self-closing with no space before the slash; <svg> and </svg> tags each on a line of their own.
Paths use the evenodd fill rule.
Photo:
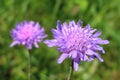
<svg viewBox="0 0 120 80">
<path fill-rule="evenodd" d="M 49 47 L 57 46 L 62 53 L 58 59 L 58 63 L 62 63 L 66 58 L 73 60 L 74 70 L 78 70 L 80 61 L 92 61 L 97 58 L 100 62 L 103 59 L 98 54 L 98 51 L 105 53 L 99 44 L 108 44 L 108 40 L 99 38 L 101 32 L 95 32 L 96 29 L 91 29 L 90 25 L 82 28 L 82 22 L 79 20 L 76 24 L 74 21 L 61 24 L 58 21 L 57 29 L 52 29 L 54 39 L 46 40 Z"/>
</svg>

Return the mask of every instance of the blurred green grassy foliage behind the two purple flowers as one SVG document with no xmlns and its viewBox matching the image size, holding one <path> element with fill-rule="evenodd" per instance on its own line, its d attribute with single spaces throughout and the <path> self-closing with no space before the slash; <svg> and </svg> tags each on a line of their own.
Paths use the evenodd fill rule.
<svg viewBox="0 0 120 80">
<path fill-rule="evenodd" d="M 27 80 L 28 52 L 23 46 L 10 48 L 10 30 L 23 20 L 44 26 L 48 39 L 57 20 L 81 19 L 84 25 L 102 31 L 110 41 L 103 46 L 104 62 L 81 62 L 73 80 L 120 80 L 120 0 L 0 0 L 0 80 Z M 66 80 L 69 59 L 57 64 L 60 53 L 39 43 L 31 50 L 31 80 Z"/>
</svg>

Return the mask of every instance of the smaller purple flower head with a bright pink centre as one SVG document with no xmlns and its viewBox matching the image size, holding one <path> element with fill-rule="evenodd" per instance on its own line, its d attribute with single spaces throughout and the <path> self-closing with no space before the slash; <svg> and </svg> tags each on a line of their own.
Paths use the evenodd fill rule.
<svg viewBox="0 0 120 80">
<path fill-rule="evenodd" d="M 15 29 L 11 31 L 12 39 L 14 40 L 10 47 L 16 44 L 22 44 L 27 47 L 27 49 L 32 49 L 32 44 L 38 48 L 38 42 L 47 35 L 44 34 L 44 28 L 41 28 L 39 23 L 34 23 L 33 21 L 24 21 L 16 25 Z"/>
</svg>

